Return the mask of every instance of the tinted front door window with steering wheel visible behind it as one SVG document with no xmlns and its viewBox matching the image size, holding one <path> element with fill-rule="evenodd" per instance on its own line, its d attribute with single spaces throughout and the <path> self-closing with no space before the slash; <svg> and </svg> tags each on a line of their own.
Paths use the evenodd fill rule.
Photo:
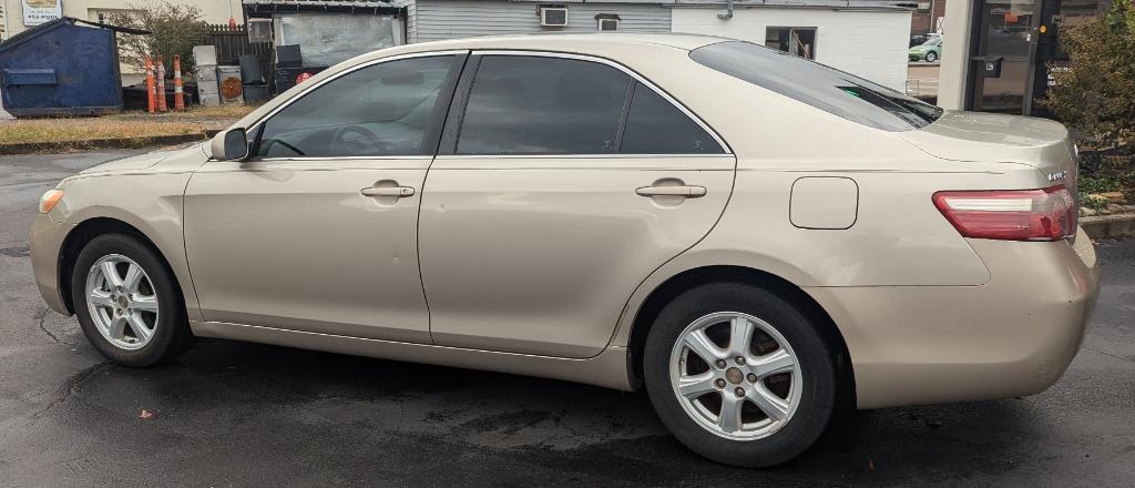
<svg viewBox="0 0 1135 488">
<path fill-rule="evenodd" d="M 260 129 L 262 158 L 415 155 L 426 148 L 434 108 L 453 56 L 361 68 L 302 95 Z"/>
</svg>

